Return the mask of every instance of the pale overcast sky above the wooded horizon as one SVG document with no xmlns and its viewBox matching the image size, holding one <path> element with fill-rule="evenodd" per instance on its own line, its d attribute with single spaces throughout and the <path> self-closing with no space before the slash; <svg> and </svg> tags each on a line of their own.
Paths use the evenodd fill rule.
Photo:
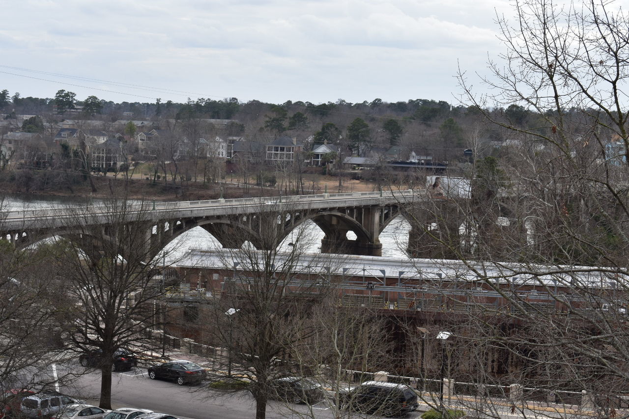
<svg viewBox="0 0 629 419">
<path fill-rule="evenodd" d="M 66 89 L 77 99 L 130 102 L 456 103 L 457 62 L 485 72 L 487 54 L 502 48 L 496 11 L 512 14 L 508 0 L 0 4 L 0 89 L 42 98 Z"/>
</svg>

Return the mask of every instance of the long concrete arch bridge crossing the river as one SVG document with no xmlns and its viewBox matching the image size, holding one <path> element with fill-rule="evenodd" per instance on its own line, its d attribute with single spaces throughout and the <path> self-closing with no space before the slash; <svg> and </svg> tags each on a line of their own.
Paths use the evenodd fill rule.
<svg viewBox="0 0 629 419">
<path fill-rule="evenodd" d="M 405 208 L 428 199 L 425 191 L 408 190 L 8 211 L 0 218 L 0 239 L 18 249 L 53 236 L 67 237 L 79 247 L 94 247 L 99 238 L 133 232 L 150 248 L 143 259 L 152 259 L 169 242 L 198 226 L 225 248 L 239 248 L 248 241 L 257 249 L 274 249 L 311 220 L 325 233 L 322 253 L 380 256 L 382 230 L 404 215 Z M 350 231 L 356 235 L 353 240 L 347 238 Z"/>
</svg>

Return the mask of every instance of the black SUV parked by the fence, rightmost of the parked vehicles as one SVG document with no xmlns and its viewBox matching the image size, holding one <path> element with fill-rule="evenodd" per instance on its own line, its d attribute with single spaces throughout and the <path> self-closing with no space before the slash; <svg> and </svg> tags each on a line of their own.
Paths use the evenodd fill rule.
<svg viewBox="0 0 629 419">
<path fill-rule="evenodd" d="M 340 408 L 384 416 L 404 416 L 419 407 L 417 393 L 406 384 L 367 381 L 343 391 Z"/>
</svg>

